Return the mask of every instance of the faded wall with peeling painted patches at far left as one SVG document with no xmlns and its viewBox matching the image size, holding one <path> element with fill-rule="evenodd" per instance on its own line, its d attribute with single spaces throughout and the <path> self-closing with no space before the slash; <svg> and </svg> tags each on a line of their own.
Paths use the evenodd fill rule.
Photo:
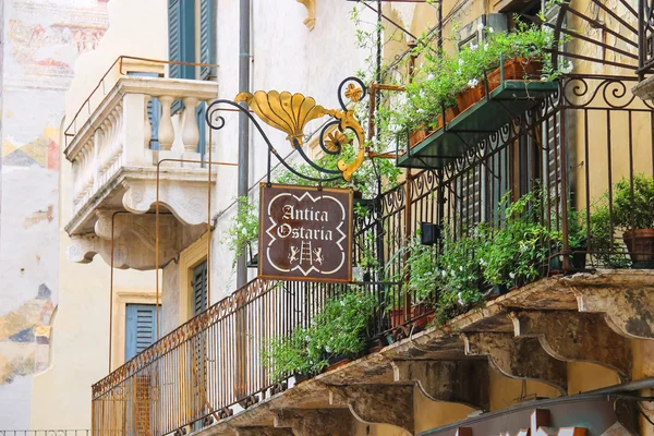
<svg viewBox="0 0 654 436">
<path fill-rule="evenodd" d="M 0 38 L 0 429 L 29 428 L 59 301 L 60 130 L 77 57 L 107 0 L 3 0 Z"/>
</svg>

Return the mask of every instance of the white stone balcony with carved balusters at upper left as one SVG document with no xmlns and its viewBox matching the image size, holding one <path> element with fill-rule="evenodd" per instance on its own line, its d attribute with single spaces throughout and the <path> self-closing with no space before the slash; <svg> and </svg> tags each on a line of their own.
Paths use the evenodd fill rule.
<svg viewBox="0 0 654 436">
<path fill-rule="evenodd" d="M 119 58 L 66 129 L 73 205 L 65 230 L 72 261 L 89 262 L 96 253 L 107 258 L 113 220 L 117 266 L 150 269 L 148 213 L 157 198 L 162 263 L 206 223 L 209 170 L 198 144 L 206 143 L 204 105 L 216 98 L 218 84 L 168 78 L 164 63 L 129 59 Z M 131 240 L 143 243 L 128 250 Z"/>
</svg>

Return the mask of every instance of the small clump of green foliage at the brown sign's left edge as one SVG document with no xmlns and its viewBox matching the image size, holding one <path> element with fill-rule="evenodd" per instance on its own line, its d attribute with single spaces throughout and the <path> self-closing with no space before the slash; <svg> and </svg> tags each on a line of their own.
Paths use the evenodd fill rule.
<svg viewBox="0 0 654 436">
<path fill-rule="evenodd" d="M 259 233 L 257 207 L 250 204 L 247 197 L 239 197 L 237 206 L 237 215 L 230 221 L 227 237 L 223 240 L 227 247 L 234 254 L 232 268 L 237 265 L 239 257 L 247 253 L 247 247 L 256 243 Z"/>
</svg>

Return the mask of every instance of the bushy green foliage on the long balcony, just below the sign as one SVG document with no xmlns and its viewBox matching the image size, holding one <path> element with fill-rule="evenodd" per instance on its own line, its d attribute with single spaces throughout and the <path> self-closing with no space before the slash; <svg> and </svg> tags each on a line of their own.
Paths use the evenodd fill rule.
<svg viewBox="0 0 654 436">
<path fill-rule="evenodd" d="M 292 374 L 314 375 L 334 356 L 355 356 L 365 348 L 366 329 L 376 301 L 360 289 L 329 299 L 308 328 L 295 327 L 288 338 L 275 338 L 262 351 L 274 380 Z"/>
</svg>

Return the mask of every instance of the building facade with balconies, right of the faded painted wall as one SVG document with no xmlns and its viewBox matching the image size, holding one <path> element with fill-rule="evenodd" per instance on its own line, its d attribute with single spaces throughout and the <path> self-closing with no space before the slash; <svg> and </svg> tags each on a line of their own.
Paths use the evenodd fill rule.
<svg viewBox="0 0 654 436">
<path fill-rule="evenodd" d="M 611 197 L 622 180 L 634 209 L 640 174 L 654 175 L 646 80 L 640 97 L 631 92 L 647 76 L 646 69 L 634 74 L 645 44 L 642 3 L 240 3 L 170 0 L 141 9 L 112 0 L 109 22 L 122 24 L 77 60 L 60 140 L 59 246 L 66 257 L 59 274 L 97 268 L 112 302 L 102 339 L 112 346 L 101 343 L 102 353 L 111 350 L 111 372 L 97 377 L 85 405 L 93 431 L 653 434 L 654 276 L 646 259 L 616 262 L 627 256 Z M 429 80 L 421 75 L 429 58 L 479 49 L 489 33 L 524 22 L 552 29 L 559 44 L 549 56 L 566 65 L 559 77 L 502 77 L 456 117 L 443 107 L 445 123 L 415 144 L 410 132 L 382 135 L 385 110 L 405 105 L 401 96 L 412 83 Z M 343 81 L 358 72 L 362 82 Z M 491 83 L 486 72 L 484 80 Z M 311 96 L 334 119 L 289 130 L 275 121 L 284 120 L 283 104 L 266 111 L 245 95 L 253 121 L 240 124 L 244 112 L 229 101 L 256 90 L 267 92 L 267 101 L 277 98 L 271 90 Z M 354 287 L 267 281 L 254 268 L 239 287 L 247 280 L 229 249 L 234 222 L 244 223 L 234 218 L 239 178 L 247 178 L 252 204 L 270 171 L 274 181 L 296 181 L 276 157 L 296 166 L 298 142 L 312 161 L 340 150 L 356 137 L 339 135 L 329 121 L 343 129 L 338 117 L 348 110 L 358 119 L 352 131 L 366 136 L 359 141 L 366 177 L 387 168 L 378 185 L 353 183 L 364 191 L 358 210 L 367 210 L 353 223 Z M 239 154 L 244 143 L 247 164 Z M 395 182 L 388 165 L 401 168 Z M 609 237 L 602 245 L 591 210 L 605 192 Z M 546 198 L 532 220 L 560 233 L 529 279 L 446 313 L 446 289 L 420 298 L 420 289 L 402 286 L 417 270 L 412 256 L 421 252 L 408 246 L 419 230 L 448 225 L 439 229 L 461 245 L 471 241 L 470 229 L 482 229 L 479 222 L 499 231 L 508 218 L 497 208 L 525 196 L 530 210 L 536 209 L 529 202 Z M 633 227 L 639 218 L 627 215 Z M 583 231 L 571 225 L 578 219 L 586 221 Z M 463 275 L 463 264 L 457 269 L 452 277 Z M 72 280 L 66 289 L 80 284 Z M 270 343 L 311 328 L 329 301 L 351 292 L 376 302 L 365 355 L 306 380 L 301 372 L 276 373 Z M 440 324 L 427 324 L 434 314 Z"/>
</svg>

